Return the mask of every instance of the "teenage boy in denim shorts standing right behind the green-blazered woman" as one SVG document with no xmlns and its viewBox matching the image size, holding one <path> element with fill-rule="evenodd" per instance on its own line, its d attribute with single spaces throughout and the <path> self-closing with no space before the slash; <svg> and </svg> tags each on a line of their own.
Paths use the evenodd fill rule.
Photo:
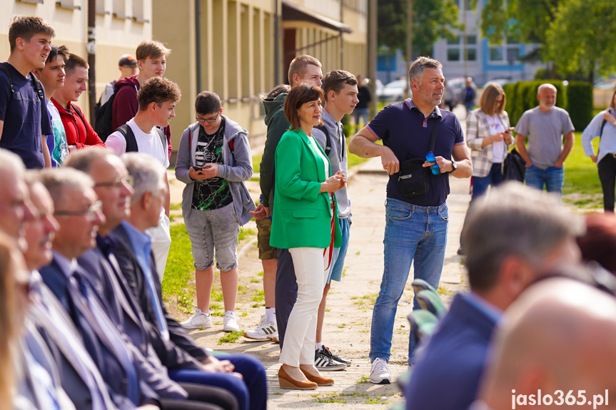
<svg viewBox="0 0 616 410">
<path fill-rule="evenodd" d="M 329 134 L 326 138 L 323 130 L 315 128 L 313 135 L 321 145 L 325 153 L 327 153 L 331 164 L 331 172 L 338 171 L 347 175 L 348 160 L 346 153 L 346 139 L 344 128 L 340 121 L 345 114 L 353 113 L 353 109 L 359 102 L 357 78 L 348 71 L 333 70 L 323 78 L 323 91 L 325 91 L 325 108 L 323 108 L 323 126 Z M 326 147 L 328 145 L 330 150 Z M 348 249 L 349 228 L 351 224 L 350 206 L 351 201 L 348 196 L 346 186 L 341 190 L 336 191 L 335 199 L 338 203 L 338 222 L 340 223 L 340 232 L 342 233 L 342 245 L 339 248 L 334 248 L 330 269 L 328 272 L 327 283 L 323 289 L 323 299 L 321 299 L 318 309 L 317 328 L 316 328 L 316 352 L 315 352 L 315 367 L 320 368 L 320 364 L 325 363 L 325 358 L 333 359 L 335 362 L 350 365 L 350 361 L 333 355 L 323 344 L 323 319 L 325 317 L 325 299 L 330 289 L 330 280 L 342 279 L 342 271 L 344 268 L 344 258 Z"/>
</svg>

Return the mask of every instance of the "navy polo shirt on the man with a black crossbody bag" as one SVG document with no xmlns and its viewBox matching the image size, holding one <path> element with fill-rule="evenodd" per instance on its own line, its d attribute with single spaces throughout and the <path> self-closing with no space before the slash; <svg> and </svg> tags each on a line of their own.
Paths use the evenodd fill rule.
<svg viewBox="0 0 616 410">
<path fill-rule="evenodd" d="M 425 159 L 430 151 L 430 137 L 435 121 L 440 118 L 434 155 L 451 160 L 455 145 L 464 143 L 464 134 L 458 118 L 449 111 L 434 108 L 433 113 L 425 118 L 413 101 L 391 104 L 383 108 L 370 124 L 368 130 L 376 138 L 383 140 L 383 145 L 390 148 L 400 163 L 411 158 Z M 445 203 L 449 195 L 449 173 L 430 174 L 430 190 L 428 193 L 407 198 L 402 195 L 398 184 L 398 174 L 389 175 L 387 183 L 387 198 L 401 200 L 418 206 L 439 206 Z"/>
</svg>

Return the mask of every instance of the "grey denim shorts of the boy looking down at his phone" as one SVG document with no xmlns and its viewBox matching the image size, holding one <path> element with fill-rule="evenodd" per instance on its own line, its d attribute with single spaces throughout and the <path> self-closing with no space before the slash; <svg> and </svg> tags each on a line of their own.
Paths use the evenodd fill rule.
<svg viewBox="0 0 616 410">
<path fill-rule="evenodd" d="M 196 269 L 211 267 L 215 252 L 219 270 L 227 272 L 238 265 L 240 224 L 233 203 L 217 210 L 193 209 L 184 223 L 191 238 Z"/>
</svg>

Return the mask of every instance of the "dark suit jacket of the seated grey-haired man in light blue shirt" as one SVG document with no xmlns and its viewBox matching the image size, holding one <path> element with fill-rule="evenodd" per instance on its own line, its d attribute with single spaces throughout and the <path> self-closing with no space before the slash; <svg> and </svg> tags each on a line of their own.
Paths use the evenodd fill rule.
<svg viewBox="0 0 616 410">
<path fill-rule="evenodd" d="M 109 237 L 111 237 L 111 239 L 113 239 L 116 243 L 113 254 L 116 255 L 116 259 L 120 264 L 120 270 L 126 278 L 126 282 L 131 288 L 133 295 L 138 300 L 139 306 L 146 317 L 146 322 L 149 327 L 151 327 L 151 332 L 160 334 L 158 326 L 156 325 L 156 314 L 154 313 L 154 309 L 150 301 L 150 294 L 145 282 L 146 279 L 139 263 L 137 262 L 137 257 L 133 251 L 131 240 L 128 239 L 126 230 L 122 225 L 118 225 L 118 227 L 111 231 Z M 202 347 L 198 347 L 194 339 L 186 332 L 185 329 L 183 329 L 183 327 L 180 326 L 176 319 L 173 319 L 171 314 L 167 312 L 165 304 L 163 303 L 161 282 L 158 280 L 158 272 L 156 271 L 156 263 L 154 262 L 152 253 L 150 253 L 150 269 L 152 270 L 154 277 L 158 301 L 161 303 L 163 314 L 165 314 L 167 327 L 169 329 L 169 337 L 171 342 L 173 342 L 173 349 L 175 350 L 175 354 L 173 354 L 173 352 L 166 353 L 169 355 L 170 364 L 171 362 L 176 361 L 176 366 L 180 366 L 183 362 L 186 362 L 186 354 L 197 360 L 208 357 L 208 352 L 206 352 L 206 350 Z M 176 367 L 169 364 L 167 366 Z"/>
</svg>

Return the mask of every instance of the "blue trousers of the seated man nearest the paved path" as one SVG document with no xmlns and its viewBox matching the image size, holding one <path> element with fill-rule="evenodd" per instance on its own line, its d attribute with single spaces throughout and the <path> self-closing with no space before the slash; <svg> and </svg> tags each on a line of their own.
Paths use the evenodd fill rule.
<svg viewBox="0 0 616 410">
<path fill-rule="evenodd" d="M 266 370 L 263 364 L 248 354 L 230 354 L 220 357 L 230 361 L 243 380 L 229 373 L 206 373 L 201 370 L 169 370 L 173 381 L 205 384 L 226 389 L 236 396 L 240 410 L 265 410 L 268 397 Z"/>
</svg>

